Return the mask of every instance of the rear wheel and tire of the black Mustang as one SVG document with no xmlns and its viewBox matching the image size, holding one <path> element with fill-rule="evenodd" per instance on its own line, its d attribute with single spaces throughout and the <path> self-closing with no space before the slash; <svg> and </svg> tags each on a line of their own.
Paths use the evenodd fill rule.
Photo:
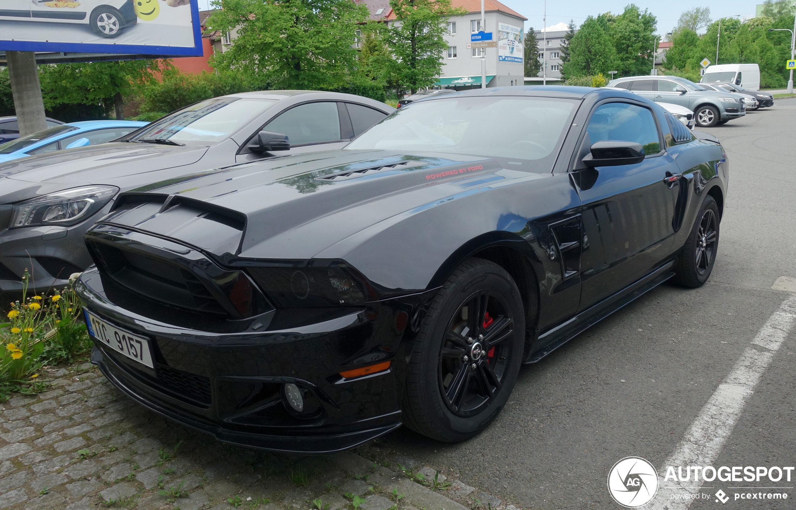
<svg viewBox="0 0 796 510">
<path fill-rule="evenodd" d="M 705 197 L 700 213 L 677 263 L 676 281 L 698 287 L 708 281 L 719 247 L 719 207 L 713 197 Z"/>
</svg>

